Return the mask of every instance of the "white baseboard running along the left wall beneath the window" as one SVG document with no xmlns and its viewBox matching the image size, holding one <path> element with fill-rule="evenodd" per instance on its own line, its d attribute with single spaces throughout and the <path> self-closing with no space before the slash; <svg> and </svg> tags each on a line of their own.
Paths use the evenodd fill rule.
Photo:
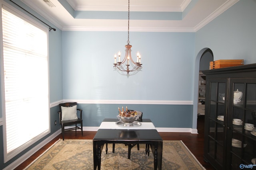
<svg viewBox="0 0 256 170">
<path fill-rule="evenodd" d="M 34 153 L 36 153 L 39 149 L 41 149 L 44 145 L 52 141 L 55 137 L 60 135 L 61 129 L 50 135 L 48 138 L 46 138 L 44 141 L 36 145 L 34 148 L 30 149 L 28 152 L 26 152 L 24 155 L 22 155 L 20 158 L 16 159 L 14 162 L 12 162 L 10 165 L 8 165 L 3 170 L 13 170 L 20 164 L 22 164 L 25 160 L 27 160 L 30 156 L 32 156 Z"/>
</svg>

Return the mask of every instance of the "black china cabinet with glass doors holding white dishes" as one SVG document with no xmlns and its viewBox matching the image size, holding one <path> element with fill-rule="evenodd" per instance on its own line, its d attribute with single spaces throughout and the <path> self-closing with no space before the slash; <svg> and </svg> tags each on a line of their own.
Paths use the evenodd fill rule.
<svg viewBox="0 0 256 170">
<path fill-rule="evenodd" d="M 204 159 L 218 170 L 255 164 L 256 64 L 204 70 L 206 74 Z M 234 100 L 234 92 L 242 96 Z M 233 119 L 240 119 L 238 123 Z"/>
</svg>

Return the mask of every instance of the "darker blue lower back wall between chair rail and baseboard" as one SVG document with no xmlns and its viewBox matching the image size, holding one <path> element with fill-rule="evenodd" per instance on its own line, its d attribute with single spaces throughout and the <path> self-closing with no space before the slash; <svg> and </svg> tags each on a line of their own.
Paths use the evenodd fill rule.
<svg viewBox="0 0 256 170">
<path fill-rule="evenodd" d="M 99 127 L 104 118 L 116 118 L 118 107 L 127 106 L 143 111 L 143 119 L 151 119 L 156 127 L 191 128 L 192 105 L 152 105 L 152 104 L 78 104 L 83 110 L 83 125 Z"/>
</svg>

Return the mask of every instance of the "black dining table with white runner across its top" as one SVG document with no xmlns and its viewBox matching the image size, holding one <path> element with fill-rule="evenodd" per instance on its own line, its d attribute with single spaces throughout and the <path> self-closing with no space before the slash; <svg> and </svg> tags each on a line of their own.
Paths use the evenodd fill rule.
<svg viewBox="0 0 256 170">
<path fill-rule="evenodd" d="M 138 123 L 139 122 L 139 123 Z M 94 170 L 101 166 L 101 154 L 104 144 L 122 143 L 129 144 L 146 144 L 146 153 L 151 148 L 154 161 L 154 170 L 162 169 L 162 148 L 163 139 L 160 137 L 154 124 L 150 119 L 140 119 L 134 126 L 122 126 L 118 119 L 103 119 L 97 133 L 93 138 L 93 160 Z"/>
</svg>

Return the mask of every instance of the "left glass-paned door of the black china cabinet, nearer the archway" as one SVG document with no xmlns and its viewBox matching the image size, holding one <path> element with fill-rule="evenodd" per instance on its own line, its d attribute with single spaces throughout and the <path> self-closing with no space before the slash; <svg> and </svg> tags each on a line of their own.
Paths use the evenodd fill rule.
<svg viewBox="0 0 256 170">
<path fill-rule="evenodd" d="M 205 117 L 206 128 L 209 132 L 205 136 L 206 146 L 209 146 L 206 150 L 208 159 L 216 162 L 219 167 L 222 168 L 222 164 L 225 161 L 225 136 L 226 136 L 226 111 L 227 111 L 227 80 L 226 79 L 212 79 L 208 82 L 209 86 L 206 90 L 209 90 L 210 98 L 209 104 L 206 108 L 208 115 Z"/>
</svg>

